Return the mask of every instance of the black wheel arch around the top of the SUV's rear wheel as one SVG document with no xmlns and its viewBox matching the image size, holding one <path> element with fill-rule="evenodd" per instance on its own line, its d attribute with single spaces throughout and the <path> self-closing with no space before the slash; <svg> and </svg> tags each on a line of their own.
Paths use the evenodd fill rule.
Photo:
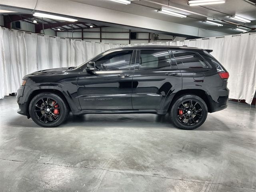
<svg viewBox="0 0 256 192">
<path fill-rule="evenodd" d="M 210 100 L 209 100 L 208 94 L 204 90 L 202 90 L 202 89 L 184 89 L 184 90 L 178 91 L 174 95 L 174 97 L 172 98 L 172 101 L 170 102 L 168 110 L 170 110 L 171 106 L 174 104 L 174 102 L 178 98 L 180 98 L 180 96 L 182 96 L 182 95 L 189 95 L 189 94 L 196 95 L 196 96 L 200 97 L 202 100 L 204 100 L 204 102 L 206 103 L 206 106 L 208 108 L 208 112 L 209 113 L 212 112 L 212 107 L 211 107 L 211 104 L 210 104 Z"/>
</svg>

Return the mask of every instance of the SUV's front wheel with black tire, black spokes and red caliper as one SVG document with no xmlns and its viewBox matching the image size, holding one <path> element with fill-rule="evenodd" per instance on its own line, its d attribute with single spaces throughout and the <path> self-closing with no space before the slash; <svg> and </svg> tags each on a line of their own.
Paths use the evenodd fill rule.
<svg viewBox="0 0 256 192">
<path fill-rule="evenodd" d="M 32 120 L 42 127 L 56 127 L 66 120 L 69 110 L 60 96 L 45 92 L 32 98 L 29 114 Z"/>
</svg>

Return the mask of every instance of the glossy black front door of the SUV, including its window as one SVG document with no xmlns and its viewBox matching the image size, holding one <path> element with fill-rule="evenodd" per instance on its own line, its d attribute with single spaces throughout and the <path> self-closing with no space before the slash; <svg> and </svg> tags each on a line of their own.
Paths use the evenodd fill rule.
<svg viewBox="0 0 256 192">
<path fill-rule="evenodd" d="M 96 70 L 84 70 L 78 77 L 78 96 L 82 109 L 132 109 L 133 50 L 106 52 L 92 60 Z"/>
</svg>

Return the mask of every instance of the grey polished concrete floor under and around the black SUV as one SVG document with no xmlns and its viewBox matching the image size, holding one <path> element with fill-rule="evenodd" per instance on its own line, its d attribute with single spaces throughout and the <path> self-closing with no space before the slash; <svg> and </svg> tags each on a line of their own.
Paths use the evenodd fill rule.
<svg viewBox="0 0 256 192">
<path fill-rule="evenodd" d="M 0 100 L 0 191 L 256 191 L 256 110 L 230 102 L 196 130 L 154 114 L 70 115 L 42 128 Z"/>
</svg>

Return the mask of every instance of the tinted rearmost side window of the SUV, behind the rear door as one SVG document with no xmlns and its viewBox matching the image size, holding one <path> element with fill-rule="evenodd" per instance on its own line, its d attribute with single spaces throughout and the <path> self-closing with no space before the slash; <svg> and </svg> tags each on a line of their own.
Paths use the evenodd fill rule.
<svg viewBox="0 0 256 192">
<path fill-rule="evenodd" d="M 206 68 L 206 62 L 196 53 L 189 51 L 172 51 L 178 68 Z"/>
</svg>

